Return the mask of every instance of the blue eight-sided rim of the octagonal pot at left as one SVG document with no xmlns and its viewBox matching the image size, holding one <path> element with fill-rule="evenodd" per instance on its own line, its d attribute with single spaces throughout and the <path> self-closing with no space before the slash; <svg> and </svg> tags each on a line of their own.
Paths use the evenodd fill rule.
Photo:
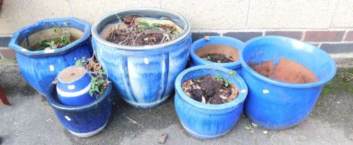
<svg viewBox="0 0 353 145">
<path fill-rule="evenodd" d="M 23 48 L 22 46 L 17 44 L 17 43 L 21 43 L 21 42 L 17 42 L 17 39 L 19 39 L 21 32 L 29 30 L 30 28 L 33 28 L 33 27 L 40 26 L 41 23 L 54 23 L 57 21 L 70 21 L 72 23 L 77 23 L 77 24 L 83 26 L 83 36 L 80 39 L 77 39 L 76 41 L 69 43 L 67 46 L 64 46 L 62 48 L 53 49 L 53 50 L 31 51 L 31 50 L 27 50 L 26 48 Z M 72 48 L 74 48 L 74 46 L 79 46 L 79 44 L 85 43 L 85 40 L 89 39 L 89 37 L 90 37 L 90 23 L 88 23 L 86 21 L 82 21 L 82 20 L 74 18 L 74 17 L 44 19 L 41 21 L 37 21 L 37 23 L 33 23 L 30 26 L 23 27 L 23 28 L 17 30 L 16 32 L 14 32 L 14 34 L 12 35 L 12 38 L 10 39 L 10 43 L 8 44 L 8 46 L 10 48 L 12 48 L 13 50 L 16 50 L 17 52 L 19 52 L 23 55 L 29 56 L 29 57 L 46 56 L 46 55 L 59 55 L 59 54 L 61 54 L 61 52 L 71 50 Z"/>
</svg>

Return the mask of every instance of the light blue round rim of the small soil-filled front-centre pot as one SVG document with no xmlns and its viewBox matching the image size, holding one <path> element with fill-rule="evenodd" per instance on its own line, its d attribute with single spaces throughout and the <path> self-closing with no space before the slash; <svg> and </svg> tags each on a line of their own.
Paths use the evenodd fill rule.
<svg viewBox="0 0 353 145">
<path fill-rule="evenodd" d="M 177 77 L 177 79 L 175 79 L 175 91 L 176 93 L 178 93 L 181 97 L 181 99 L 183 99 L 184 101 L 186 101 L 188 104 L 195 106 L 197 108 L 203 108 L 203 109 L 208 109 L 208 110 L 223 110 L 223 109 L 227 109 L 227 108 L 232 108 L 234 106 L 238 106 L 239 104 L 243 103 L 245 101 L 246 95 L 248 95 L 248 86 L 246 86 L 245 81 L 243 80 L 243 78 L 241 78 L 239 76 L 239 74 L 236 75 L 236 77 L 234 77 L 233 79 L 235 79 L 235 81 L 238 81 L 240 84 L 240 87 L 238 87 L 239 90 L 239 96 L 236 97 L 236 99 L 234 99 L 233 101 L 230 101 L 228 103 L 225 104 L 204 104 L 201 103 L 199 101 L 196 101 L 192 98 L 190 98 L 188 95 L 186 95 L 183 91 L 183 88 L 181 88 L 181 79 L 183 79 L 183 77 L 188 73 L 188 72 L 192 72 L 195 70 L 201 70 L 201 69 L 214 69 L 214 70 L 221 70 L 223 72 L 229 72 L 230 69 L 228 68 L 223 68 L 220 66 L 209 66 L 209 65 L 200 65 L 200 66 L 194 66 L 191 68 L 188 68 L 186 70 L 183 70 Z"/>
</svg>

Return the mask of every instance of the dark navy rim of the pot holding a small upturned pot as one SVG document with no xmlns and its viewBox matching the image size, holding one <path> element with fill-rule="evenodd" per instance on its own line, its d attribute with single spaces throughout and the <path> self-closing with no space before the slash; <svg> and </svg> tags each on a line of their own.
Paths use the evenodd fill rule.
<svg viewBox="0 0 353 145">
<path fill-rule="evenodd" d="M 47 97 L 48 104 L 54 108 L 54 110 L 61 110 L 65 112 L 73 112 L 73 111 L 80 111 L 80 110 L 88 110 L 88 109 L 94 109 L 97 105 L 103 103 L 103 100 L 105 100 L 107 97 L 110 97 L 110 92 L 112 91 L 112 83 L 108 85 L 107 88 L 105 88 L 104 93 L 98 97 L 98 99 L 92 101 L 90 104 L 85 104 L 83 106 L 65 106 L 63 104 L 60 104 L 57 99 L 54 98 L 53 93 L 56 93 L 57 91 L 54 90 L 57 88 L 56 84 L 50 84 L 49 86 L 49 93 Z"/>
</svg>

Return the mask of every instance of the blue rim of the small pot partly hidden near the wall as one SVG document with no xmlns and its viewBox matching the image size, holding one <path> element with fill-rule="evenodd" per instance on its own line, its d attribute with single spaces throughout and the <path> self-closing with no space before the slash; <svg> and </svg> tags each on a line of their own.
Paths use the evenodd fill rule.
<svg viewBox="0 0 353 145">
<path fill-rule="evenodd" d="M 234 41 L 236 43 L 241 43 L 241 46 L 243 46 L 243 44 L 244 44 L 242 41 L 235 39 L 235 38 L 232 38 L 232 37 L 210 36 L 210 39 L 228 39 L 228 40 Z M 216 62 L 212 62 L 212 61 L 207 61 L 207 60 L 202 59 L 201 57 L 197 56 L 195 53 L 195 46 L 196 46 L 196 44 L 201 43 L 202 41 L 204 41 L 203 38 L 198 39 L 198 40 L 194 41 L 194 43 L 192 43 L 192 45 L 191 45 L 190 57 L 192 57 L 196 61 L 200 61 L 202 64 L 222 66 L 222 67 L 240 66 L 241 65 L 239 60 L 234 61 L 234 62 L 228 62 L 228 63 L 216 63 Z M 239 50 L 239 55 L 240 55 L 241 48 L 236 48 L 236 49 Z"/>
</svg>

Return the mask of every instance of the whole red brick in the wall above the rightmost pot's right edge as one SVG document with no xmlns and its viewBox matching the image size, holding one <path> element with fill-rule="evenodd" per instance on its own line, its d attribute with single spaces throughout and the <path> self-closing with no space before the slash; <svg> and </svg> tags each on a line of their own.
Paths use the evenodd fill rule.
<svg viewBox="0 0 353 145">
<path fill-rule="evenodd" d="M 344 31 L 307 31 L 304 41 L 342 41 Z"/>
</svg>

